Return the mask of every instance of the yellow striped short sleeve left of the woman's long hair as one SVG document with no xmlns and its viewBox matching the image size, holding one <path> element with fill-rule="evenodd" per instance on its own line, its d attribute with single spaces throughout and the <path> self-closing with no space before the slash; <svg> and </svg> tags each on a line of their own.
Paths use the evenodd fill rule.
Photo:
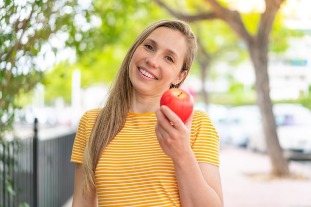
<svg viewBox="0 0 311 207">
<path fill-rule="evenodd" d="M 99 110 L 98 109 L 92 109 L 89 111 L 86 111 L 79 122 L 73 151 L 71 155 L 71 162 L 76 163 L 82 163 L 83 162 L 83 155 L 84 150 L 88 141 L 88 138 L 90 136 L 91 130 L 94 126 L 95 119 L 97 117 Z"/>
</svg>

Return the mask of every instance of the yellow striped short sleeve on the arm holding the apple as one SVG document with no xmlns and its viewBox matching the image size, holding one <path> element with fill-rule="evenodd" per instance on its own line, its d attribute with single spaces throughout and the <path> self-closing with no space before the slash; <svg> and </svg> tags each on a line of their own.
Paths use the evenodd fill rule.
<svg viewBox="0 0 311 207">
<path fill-rule="evenodd" d="M 194 111 L 190 144 L 198 162 L 220 166 L 220 139 L 210 116 L 204 111 Z"/>
</svg>

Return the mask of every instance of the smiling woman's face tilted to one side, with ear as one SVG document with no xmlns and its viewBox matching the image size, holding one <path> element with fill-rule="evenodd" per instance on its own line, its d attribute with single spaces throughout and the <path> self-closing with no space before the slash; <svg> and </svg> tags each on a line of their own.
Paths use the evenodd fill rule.
<svg viewBox="0 0 311 207">
<path fill-rule="evenodd" d="M 178 30 L 159 27 L 136 49 L 129 76 L 136 93 L 160 96 L 187 75 L 181 72 L 187 43 Z"/>
</svg>

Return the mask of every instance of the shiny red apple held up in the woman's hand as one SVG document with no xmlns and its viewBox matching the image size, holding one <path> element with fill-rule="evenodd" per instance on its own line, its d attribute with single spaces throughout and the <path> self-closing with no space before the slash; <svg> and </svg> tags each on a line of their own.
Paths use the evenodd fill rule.
<svg viewBox="0 0 311 207">
<path fill-rule="evenodd" d="M 160 105 L 168 106 L 185 122 L 193 111 L 194 100 L 188 92 L 179 88 L 171 88 L 162 95 Z"/>
</svg>

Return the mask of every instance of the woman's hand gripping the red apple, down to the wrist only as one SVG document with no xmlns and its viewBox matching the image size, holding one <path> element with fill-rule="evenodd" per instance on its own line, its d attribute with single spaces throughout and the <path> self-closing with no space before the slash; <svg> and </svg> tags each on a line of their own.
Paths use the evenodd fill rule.
<svg viewBox="0 0 311 207">
<path fill-rule="evenodd" d="M 192 153 L 190 147 L 190 130 L 193 112 L 185 123 L 167 106 L 156 110 L 156 136 L 163 152 L 173 162 L 184 155 Z"/>
</svg>

